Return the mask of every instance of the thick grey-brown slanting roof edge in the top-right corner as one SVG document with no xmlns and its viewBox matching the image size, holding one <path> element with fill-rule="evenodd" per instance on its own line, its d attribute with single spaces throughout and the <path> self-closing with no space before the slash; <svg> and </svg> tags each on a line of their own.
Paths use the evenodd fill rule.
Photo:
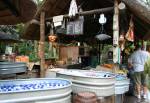
<svg viewBox="0 0 150 103">
<path fill-rule="evenodd" d="M 150 7 L 140 0 L 122 0 L 140 19 L 150 24 Z"/>
</svg>

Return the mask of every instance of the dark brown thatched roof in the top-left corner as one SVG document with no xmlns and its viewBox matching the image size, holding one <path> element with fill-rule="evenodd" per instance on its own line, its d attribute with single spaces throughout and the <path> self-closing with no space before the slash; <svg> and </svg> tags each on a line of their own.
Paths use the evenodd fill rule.
<svg viewBox="0 0 150 103">
<path fill-rule="evenodd" d="M 0 0 L 0 25 L 25 23 L 33 18 L 36 8 L 33 0 Z"/>
</svg>

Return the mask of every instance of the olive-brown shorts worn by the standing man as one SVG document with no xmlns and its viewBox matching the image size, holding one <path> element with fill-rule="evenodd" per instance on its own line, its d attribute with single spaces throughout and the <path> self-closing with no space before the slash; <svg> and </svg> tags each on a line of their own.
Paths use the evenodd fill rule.
<svg viewBox="0 0 150 103">
<path fill-rule="evenodd" d="M 134 72 L 133 79 L 136 85 L 146 86 L 146 75 L 144 72 Z"/>
</svg>

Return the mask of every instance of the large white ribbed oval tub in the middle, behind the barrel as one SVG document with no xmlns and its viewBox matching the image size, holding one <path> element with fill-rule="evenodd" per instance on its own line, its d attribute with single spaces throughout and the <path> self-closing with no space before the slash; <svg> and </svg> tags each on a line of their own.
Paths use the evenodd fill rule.
<svg viewBox="0 0 150 103">
<path fill-rule="evenodd" d="M 89 91 L 99 97 L 115 94 L 115 76 L 108 72 L 69 69 L 57 72 L 56 76 L 71 80 L 74 93 Z"/>
</svg>

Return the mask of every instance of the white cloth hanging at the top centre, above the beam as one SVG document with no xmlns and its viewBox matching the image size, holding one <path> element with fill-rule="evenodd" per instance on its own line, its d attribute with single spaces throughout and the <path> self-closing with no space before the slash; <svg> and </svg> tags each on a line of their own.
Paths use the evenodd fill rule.
<svg viewBox="0 0 150 103">
<path fill-rule="evenodd" d="M 70 8 L 69 8 L 69 16 L 75 16 L 78 13 L 78 7 L 76 4 L 76 0 L 72 0 L 70 3 Z"/>
</svg>

